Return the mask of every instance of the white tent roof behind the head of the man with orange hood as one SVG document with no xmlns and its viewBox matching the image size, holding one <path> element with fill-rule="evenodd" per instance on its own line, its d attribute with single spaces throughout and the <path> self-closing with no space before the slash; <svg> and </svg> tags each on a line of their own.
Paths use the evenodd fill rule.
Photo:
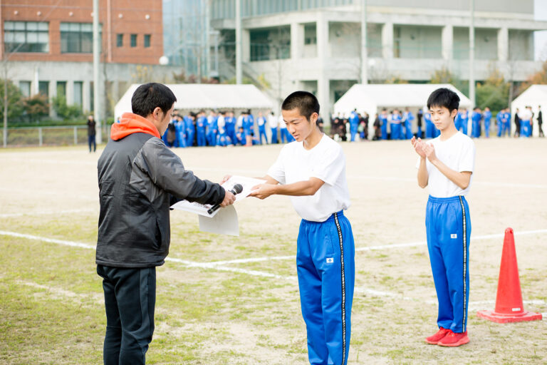
<svg viewBox="0 0 547 365">
<path fill-rule="evenodd" d="M 115 117 L 131 112 L 131 98 L 140 84 L 130 86 L 114 108 Z M 209 109 L 271 109 L 272 101 L 254 85 L 224 85 L 204 83 L 167 84 L 177 101 L 177 110 L 199 111 Z"/>
</svg>

